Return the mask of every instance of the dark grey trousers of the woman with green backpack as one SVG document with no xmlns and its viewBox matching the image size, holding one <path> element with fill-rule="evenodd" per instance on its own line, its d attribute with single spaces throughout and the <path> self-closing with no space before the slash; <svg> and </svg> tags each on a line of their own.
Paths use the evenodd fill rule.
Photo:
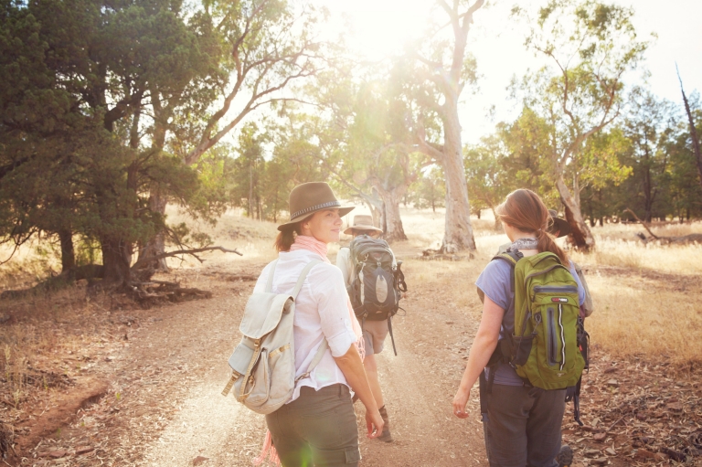
<svg viewBox="0 0 702 467">
<path fill-rule="evenodd" d="M 566 390 L 493 385 L 483 425 L 490 467 L 554 467 Z"/>
</svg>

